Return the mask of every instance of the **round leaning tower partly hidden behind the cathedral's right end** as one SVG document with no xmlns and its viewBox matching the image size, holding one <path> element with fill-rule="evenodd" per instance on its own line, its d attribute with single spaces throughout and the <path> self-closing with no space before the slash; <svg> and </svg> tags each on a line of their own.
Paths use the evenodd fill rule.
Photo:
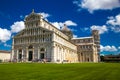
<svg viewBox="0 0 120 80">
<path fill-rule="evenodd" d="M 100 35 L 98 30 L 92 30 L 92 36 L 94 38 L 94 43 L 97 46 L 97 52 L 98 52 L 98 59 L 100 61 Z"/>
</svg>

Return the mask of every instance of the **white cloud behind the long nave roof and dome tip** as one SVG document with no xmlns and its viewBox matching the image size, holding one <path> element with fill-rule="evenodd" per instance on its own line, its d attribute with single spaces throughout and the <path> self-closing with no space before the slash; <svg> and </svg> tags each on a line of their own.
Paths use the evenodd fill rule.
<svg viewBox="0 0 120 80">
<path fill-rule="evenodd" d="M 62 28 L 64 24 L 67 26 L 77 26 L 77 24 L 71 20 L 67 20 L 65 22 L 51 22 L 51 24 L 53 24 L 58 29 Z"/>
</svg>

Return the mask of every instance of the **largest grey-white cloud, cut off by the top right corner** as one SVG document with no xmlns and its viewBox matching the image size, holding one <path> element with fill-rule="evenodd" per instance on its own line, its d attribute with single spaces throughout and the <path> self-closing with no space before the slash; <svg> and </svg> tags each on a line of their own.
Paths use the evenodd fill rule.
<svg viewBox="0 0 120 80">
<path fill-rule="evenodd" d="M 120 0 L 75 0 L 73 3 L 87 9 L 90 13 L 95 10 L 112 10 L 120 7 Z"/>
</svg>

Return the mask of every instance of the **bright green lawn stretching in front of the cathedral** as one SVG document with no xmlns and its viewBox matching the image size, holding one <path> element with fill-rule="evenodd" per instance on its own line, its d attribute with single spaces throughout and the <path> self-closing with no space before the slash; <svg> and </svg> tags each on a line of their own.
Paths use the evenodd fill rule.
<svg viewBox="0 0 120 80">
<path fill-rule="evenodd" d="M 0 80 L 120 80 L 120 63 L 0 64 Z"/>
</svg>

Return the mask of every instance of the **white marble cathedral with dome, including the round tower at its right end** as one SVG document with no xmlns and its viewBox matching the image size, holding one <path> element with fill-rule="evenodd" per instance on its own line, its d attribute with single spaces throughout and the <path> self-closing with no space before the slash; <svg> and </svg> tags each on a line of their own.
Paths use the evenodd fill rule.
<svg viewBox="0 0 120 80">
<path fill-rule="evenodd" d="M 73 38 L 66 24 L 58 29 L 34 10 L 25 17 L 24 24 L 25 29 L 13 37 L 12 61 L 99 62 L 98 30 L 93 30 L 90 37 Z"/>
</svg>

